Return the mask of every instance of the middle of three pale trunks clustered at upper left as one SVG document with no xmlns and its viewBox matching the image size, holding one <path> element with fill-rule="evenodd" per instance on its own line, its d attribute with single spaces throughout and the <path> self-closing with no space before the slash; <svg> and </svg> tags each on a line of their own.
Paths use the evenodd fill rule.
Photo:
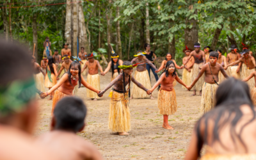
<svg viewBox="0 0 256 160">
<path fill-rule="evenodd" d="M 78 36 L 77 6 L 78 6 L 78 4 L 76 3 L 77 0 L 73 0 L 73 2 L 74 2 L 74 4 L 73 4 L 73 18 L 72 18 L 72 20 L 73 20 L 72 55 L 77 56 L 77 36 Z"/>
</svg>

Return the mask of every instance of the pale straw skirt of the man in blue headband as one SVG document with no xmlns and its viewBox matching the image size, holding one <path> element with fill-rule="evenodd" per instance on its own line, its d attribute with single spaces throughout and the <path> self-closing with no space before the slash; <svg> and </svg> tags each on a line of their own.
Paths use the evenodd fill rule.
<svg viewBox="0 0 256 160">
<path fill-rule="evenodd" d="M 194 64 L 193 65 L 193 70 L 192 70 L 192 79 L 191 79 L 191 82 L 193 82 L 196 77 L 198 76 L 199 72 L 200 72 L 200 69 L 199 67 L 202 67 L 203 63 L 200 63 L 200 64 Z M 202 86 L 204 84 L 204 78 L 205 78 L 205 75 L 203 74 L 199 79 L 198 81 L 196 82 L 193 90 L 197 90 L 197 91 L 200 91 L 202 90 Z"/>
</svg>

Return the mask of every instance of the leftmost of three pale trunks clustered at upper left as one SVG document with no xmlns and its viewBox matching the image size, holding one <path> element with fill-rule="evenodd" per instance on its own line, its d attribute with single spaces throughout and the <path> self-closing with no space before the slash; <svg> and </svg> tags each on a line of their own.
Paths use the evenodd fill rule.
<svg viewBox="0 0 256 160">
<path fill-rule="evenodd" d="M 71 27 L 71 15 L 72 15 L 72 0 L 67 0 L 67 7 L 66 7 L 66 24 L 65 24 L 65 39 L 66 42 L 69 44 L 68 48 L 71 49 L 71 42 L 72 42 L 72 27 Z"/>
</svg>

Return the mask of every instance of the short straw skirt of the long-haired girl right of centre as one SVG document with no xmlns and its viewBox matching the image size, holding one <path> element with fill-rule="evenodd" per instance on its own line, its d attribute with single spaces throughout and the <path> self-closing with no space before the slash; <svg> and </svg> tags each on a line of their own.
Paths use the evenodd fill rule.
<svg viewBox="0 0 256 160">
<path fill-rule="evenodd" d="M 160 89 L 158 92 L 157 104 L 161 115 L 173 115 L 177 111 L 175 90 L 166 91 Z"/>
</svg>

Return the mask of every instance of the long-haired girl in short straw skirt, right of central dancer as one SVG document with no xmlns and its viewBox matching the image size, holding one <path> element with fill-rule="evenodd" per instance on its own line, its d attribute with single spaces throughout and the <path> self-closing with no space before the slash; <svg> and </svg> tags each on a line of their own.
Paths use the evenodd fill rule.
<svg viewBox="0 0 256 160">
<path fill-rule="evenodd" d="M 157 83 L 147 91 L 147 93 L 152 93 L 159 84 L 161 88 L 158 93 L 158 108 L 160 114 L 164 116 L 163 127 L 165 129 L 173 129 L 172 126 L 168 124 L 168 115 L 173 115 L 177 111 L 176 93 L 173 88 L 173 81 L 176 81 L 186 88 L 186 84 L 177 76 L 175 72 L 175 63 L 173 61 L 167 61 L 165 65 L 164 74 L 158 79 Z"/>
</svg>

